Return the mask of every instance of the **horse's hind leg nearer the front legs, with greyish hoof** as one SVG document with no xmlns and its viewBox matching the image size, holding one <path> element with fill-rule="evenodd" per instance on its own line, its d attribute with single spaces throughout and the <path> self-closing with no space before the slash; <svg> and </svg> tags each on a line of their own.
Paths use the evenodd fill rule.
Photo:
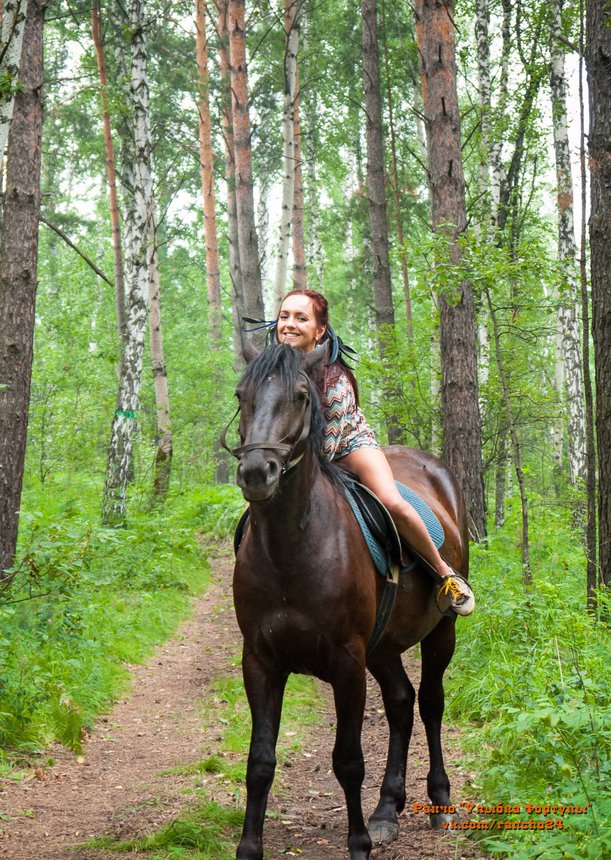
<svg viewBox="0 0 611 860">
<path fill-rule="evenodd" d="M 382 691 L 389 741 L 380 800 L 369 819 L 369 835 L 374 843 L 385 843 L 397 838 L 397 815 L 405 808 L 407 750 L 414 725 L 416 694 L 401 657 L 395 657 L 383 666 L 370 668 L 370 671 Z"/>
</svg>

